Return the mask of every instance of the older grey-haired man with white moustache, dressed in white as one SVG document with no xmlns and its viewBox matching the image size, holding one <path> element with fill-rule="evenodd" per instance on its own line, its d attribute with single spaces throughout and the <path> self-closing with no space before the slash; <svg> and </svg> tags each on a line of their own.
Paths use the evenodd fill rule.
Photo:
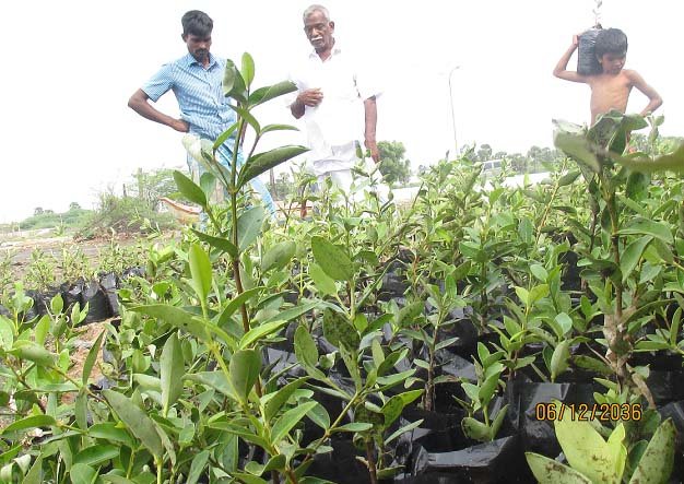
<svg viewBox="0 0 684 484">
<path fill-rule="evenodd" d="M 380 161 L 376 141 L 380 93 L 369 84 L 358 60 L 335 43 L 334 22 L 325 7 L 305 10 L 304 32 L 314 50 L 291 74 L 298 93 L 290 109 L 306 126 L 315 175 L 319 180 L 330 177 L 349 190 L 362 139 L 373 161 Z"/>
</svg>

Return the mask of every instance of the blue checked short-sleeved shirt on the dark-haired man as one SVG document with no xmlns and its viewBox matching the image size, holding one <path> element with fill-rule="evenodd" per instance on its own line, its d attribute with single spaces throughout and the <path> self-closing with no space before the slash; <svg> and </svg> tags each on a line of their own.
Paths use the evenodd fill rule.
<svg viewBox="0 0 684 484">
<path fill-rule="evenodd" d="M 215 140 L 236 120 L 229 98 L 223 95 L 224 70 L 224 59 L 210 54 L 204 68 L 188 52 L 162 66 L 142 90 L 155 103 L 172 90 L 180 107 L 180 119 L 190 125 L 190 132 Z"/>
</svg>

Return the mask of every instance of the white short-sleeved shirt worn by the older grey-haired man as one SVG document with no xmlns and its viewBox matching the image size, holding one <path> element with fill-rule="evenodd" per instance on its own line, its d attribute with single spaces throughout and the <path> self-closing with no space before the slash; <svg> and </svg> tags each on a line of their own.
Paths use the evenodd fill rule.
<svg viewBox="0 0 684 484">
<path fill-rule="evenodd" d="M 317 174 L 354 165 L 356 150 L 351 145 L 364 139 L 363 102 L 380 94 L 368 79 L 358 60 L 343 54 L 337 42 L 328 59 L 321 60 L 311 50 L 290 74 L 299 92 L 320 88 L 323 94 L 321 103 L 306 106 L 300 118 L 308 137 L 308 156 Z"/>
</svg>

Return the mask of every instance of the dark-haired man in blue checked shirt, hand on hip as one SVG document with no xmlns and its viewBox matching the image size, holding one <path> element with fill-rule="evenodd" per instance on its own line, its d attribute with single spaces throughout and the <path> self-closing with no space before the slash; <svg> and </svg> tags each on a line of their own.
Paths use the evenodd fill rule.
<svg viewBox="0 0 684 484">
<path fill-rule="evenodd" d="M 223 95 L 225 60 L 209 52 L 214 24 L 208 14 L 191 10 L 182 15 L 181 24 L 181 38 L 188 47 L 188 54 L 162 66 L 156 74 L 135 91 L 128 106 L 143 118 L 176 131 L 215 140 L 236 120 L 235 111 L 228 106 L 228 98 Z M 161 113 L 149 103 L 149 99 L 156 103 L 169 90 L 178 101 L 180 119 Z M 234 145 L 235 134 L 217 151 L 219 161 L 225 166 L 231 165 Z M 243 155 L 238 153 L 238 165 L 243 162 Z M 201 170 L 201 166 L 189 154 L 188 167 L 190 173 Z M 251 185 L 274 216 L 275 205 L 263 182 L 255 178 Z"/>
</svg>

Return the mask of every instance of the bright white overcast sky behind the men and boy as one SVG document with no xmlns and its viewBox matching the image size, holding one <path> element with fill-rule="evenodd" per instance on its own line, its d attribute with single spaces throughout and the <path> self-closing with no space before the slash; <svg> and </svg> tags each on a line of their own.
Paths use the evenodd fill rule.
<svg viewBox="0 0 684 484">
<path fill-rule="evenodd" d="M 213 54 L 236 60 L 251 54 L 260 86 L 284 80 L 309 52 L 302 24 L 309 3 L 8 2 L 2 8 L 9 33 L 0 74 L 5 93 L 0 223 L 22 220 L 38 206 L 61 212 L 78 202 L 94 209 L 98 193 L 120 194 L 139 167 L 185 167 L 182 135 L 141 118 L 127 102 L 162 63 L 187 52 L 180 38 L 186 11 L 199 9 L 213 17 Z M 589 119 L 589 87 L 551 72 L 573 35 L 593 25 L 594 0 L 323 4 L 335 22 L 337 40 L 364 52 L 378 73 L 378 141 L 403 142 L 413 169 L 435 163 L 447 150 L 453 153 L 455 144 L 488 143 L 494 152 L 509 153 L 551 146 L 552 119 Z M 626 68 L 663 97 L 661 132 L 684 135 L 684 68 L 677 61 L 684 2 L 603 0 L 600 13 L 604 27 L 628 36 Z M 576 57 L 569 67 L 575 66 Z M 646 104 L 634 91 L 628 111 Z M 156 107 L 178 115 L 173 93 Z M 299 127 L 279 101 L 256 115 L 262 125 Z M 293 131 L 272 133 L 260 146 L 305 142 L 303 132 Z"/>
</svg>

